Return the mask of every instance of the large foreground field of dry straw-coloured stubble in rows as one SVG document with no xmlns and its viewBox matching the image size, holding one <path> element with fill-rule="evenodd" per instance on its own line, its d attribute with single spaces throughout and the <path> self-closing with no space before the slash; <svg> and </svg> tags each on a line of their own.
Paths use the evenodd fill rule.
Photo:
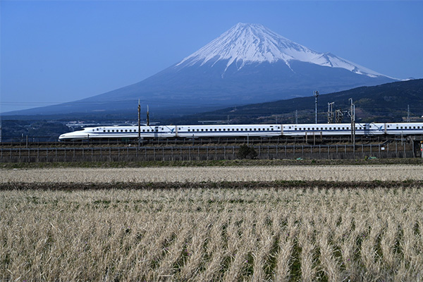
<svg viewBox="0 0 423 282">
<path fill-rule="evenodd" d="M 0 281 L 423 276 L 418 187 L 0 194 Z"/>
</svg>

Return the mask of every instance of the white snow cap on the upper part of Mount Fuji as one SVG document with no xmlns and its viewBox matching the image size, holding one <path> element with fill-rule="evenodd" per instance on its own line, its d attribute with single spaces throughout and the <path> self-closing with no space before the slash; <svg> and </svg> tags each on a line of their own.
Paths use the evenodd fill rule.
<svg viewBox="0 0 423 282">
<path fill-rule="evenodd" d="M 224 71 L 233 63 L 239 70 L 250 63 L 283 61 L 290 66 L 291 61 L 302 61 L 331 68 L 345 68 L 369 77 L 381 75 L 331 53 L 319 53 L 292 42 L 263 25 L 250 23 L 238 23 L 176 66 L 214 64 L 218 61 L 226 61 Z"/>
</svg>

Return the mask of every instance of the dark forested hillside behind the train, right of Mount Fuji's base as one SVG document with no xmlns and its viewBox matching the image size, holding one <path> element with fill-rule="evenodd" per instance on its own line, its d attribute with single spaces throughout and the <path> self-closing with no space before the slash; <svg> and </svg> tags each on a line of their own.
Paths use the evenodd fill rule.
<svg viewBox="0 0 423 282">
<path fill-rule="evenodd" d="M 407 116 L 423 116 L 423 79 L 392 82 L 372 87 L 323 94 L 318 98 L 319 122 L 327 122 L 328 103 L 334 102 L 333 110 L 348 110 L 352 98 L 357 121 L 385 122 L 403 121 Z M 222 121 L 230 123 L 295 123 L 298 111 L 299 123 L 314 123 L 314 97 L 301 97 L 270 103 L 250 104 L 185 116 L 173 123 L 197 123 L 198 121 Z M 345 120 L 348 122 L 348 117 Z"/>
</svg>

